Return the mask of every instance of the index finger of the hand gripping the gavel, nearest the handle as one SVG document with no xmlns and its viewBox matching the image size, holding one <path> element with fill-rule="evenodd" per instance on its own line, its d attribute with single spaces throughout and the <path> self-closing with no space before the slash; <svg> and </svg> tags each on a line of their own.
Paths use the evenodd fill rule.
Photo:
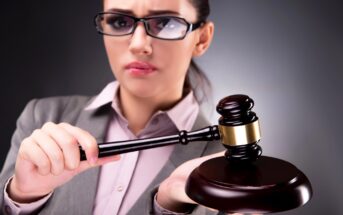
<svg viewBox="0 0 343 215">
<path fill-rule="evenodd" d="M 82 130 L 81 128 L 72 126 L 68 123 L 60 123 L 59 126 L 63 127 L 66 131 L 68 131 L 71 135 L 73 135 L 82 149 L 86 153 L 86 158 L 88 163 L 91 166 L 96 165 L 96 162 L 98 160 L 98 154 L 99 154 L 99 148 L 98 144 L 95 140 L 95 138 L 88 133 L 85 130 Z M 79 161 L 80 161 L 80 151 L 79 148 L 77 148 L 78 154 L 79 154 Z"/>
</svg>

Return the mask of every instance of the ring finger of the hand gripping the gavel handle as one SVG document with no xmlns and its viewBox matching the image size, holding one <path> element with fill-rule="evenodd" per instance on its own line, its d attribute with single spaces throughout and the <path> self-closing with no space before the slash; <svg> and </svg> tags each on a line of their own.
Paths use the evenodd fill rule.
<svg viewBox="0 0 343 215">
<path fill-rule="evenodd" d="M 53 175 L 60 175 L 64 170 L 64 156 L 58 144 L 42 130 L 35 130 L 32 139 L 48 156 L 51 165 L 51 173 Z"/>
</svg>

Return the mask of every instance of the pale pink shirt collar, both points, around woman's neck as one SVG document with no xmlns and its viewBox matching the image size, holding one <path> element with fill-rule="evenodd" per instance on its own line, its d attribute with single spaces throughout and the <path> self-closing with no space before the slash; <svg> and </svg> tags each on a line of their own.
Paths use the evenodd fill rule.
<svg viewBox="0 0 343 215">
<path fill-rule="evenodd" d="M 118 90 L 118 81 L 107 84 L 85 110 L 94 110 L 105 104 L 112 103 L 112 108 L 115 112 L 123 117 L 119 106 Z M 166 111 L 158 111 L 153 117 L 159 114 L 166 114 L 178 130 L 188 131 L 192 128 L 198 113 L 199 104 L 194 97 L 193 91 L 191 91 L 173 108 Z"/>
</svg>

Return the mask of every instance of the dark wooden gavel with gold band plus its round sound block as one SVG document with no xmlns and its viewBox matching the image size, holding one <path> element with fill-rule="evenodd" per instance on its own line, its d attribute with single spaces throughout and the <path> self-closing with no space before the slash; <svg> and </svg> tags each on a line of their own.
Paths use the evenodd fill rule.
<svg viewBox="0 0 343 215">
<path fill-rule="evenodd" d="M 218 141 L 225 156 L 193 170 L 186 193 L 195 202 L 225 213 L 270 213 L 293 209 L 311 199 L 307 177 L 294 165 L 261 156 L 259 121 L 246 95 L 232 95 L 217 105 L 218 125 L 146 139 L 101 143 L 99 157 L 195 141 Z M 80 148 L 81 160 L 86 159 Z"/>
</svg>

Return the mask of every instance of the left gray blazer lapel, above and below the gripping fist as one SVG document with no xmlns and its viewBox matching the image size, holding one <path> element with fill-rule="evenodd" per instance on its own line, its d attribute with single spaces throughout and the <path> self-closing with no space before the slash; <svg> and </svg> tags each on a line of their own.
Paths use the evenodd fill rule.
<svg viewBox="0 0 343 215">
<path fill-rule="evenodd" d="M 75 125 L 90 132 L 98 142 L 103 142 L 110 116 L 110 105 L 96 110 L 83 110 Z M 56 189 L 42 213 L 92 214 L 99 172 L 100 167 L 91 168 Z"/>
</svg>

